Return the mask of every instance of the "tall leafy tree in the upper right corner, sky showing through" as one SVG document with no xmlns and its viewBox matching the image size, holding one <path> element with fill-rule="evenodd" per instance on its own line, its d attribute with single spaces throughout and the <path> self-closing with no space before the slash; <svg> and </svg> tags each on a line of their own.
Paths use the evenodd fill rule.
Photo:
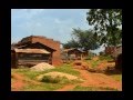
<svg viewBox="0 0 133 100">
<path fill-rule="evenodd" d="M 114 46 L 122 43 L 122 10 L 91 9 L 86 20 L 94 26 L 95 38 L 100 44 Z"/>
</svg>

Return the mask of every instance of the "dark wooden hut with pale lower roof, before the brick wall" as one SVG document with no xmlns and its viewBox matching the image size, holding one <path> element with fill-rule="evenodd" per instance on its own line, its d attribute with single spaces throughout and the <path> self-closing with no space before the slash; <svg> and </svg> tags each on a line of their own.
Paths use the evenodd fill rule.
<svg viewBox="0 0 133 100">
<path fill-rule="evenodd" d="M 32 67 L 40 62 L 52 64 L 52 56 L 55 50 L 39 42 L 29 43 L 11 49 L 11 67 Z"/>
</svg>

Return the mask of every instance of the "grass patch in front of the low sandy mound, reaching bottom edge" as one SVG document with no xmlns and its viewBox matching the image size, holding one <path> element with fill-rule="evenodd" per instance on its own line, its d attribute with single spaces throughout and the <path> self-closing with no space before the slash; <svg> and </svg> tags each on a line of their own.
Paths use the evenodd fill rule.
<svg viewBox="0 0 133 100">
<path fill-rule="evenodd" d="M 60 80 L 60 81 L 59 81 Z M 22 91 L 54 91 L 57 89 L 63 88 L 65 84 L 75 84 L 81 82 L 79 80 L 68 80 L 66 78 L 51 79 L 51 77 L 44 77 L 43 82 L 40 84 L 34 84 L 30 81 L 25 81 L 25 87 L 23 87 Z"/>
</svg>

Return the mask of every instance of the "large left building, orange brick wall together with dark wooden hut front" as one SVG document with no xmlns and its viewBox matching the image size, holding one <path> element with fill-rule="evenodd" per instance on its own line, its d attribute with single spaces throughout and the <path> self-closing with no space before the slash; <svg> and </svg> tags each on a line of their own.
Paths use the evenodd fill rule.
<svg viewBox="0 0 133 100">
<path fill-rule="evenodd" d="M 31 67 L 40 62 L 61 64 L 60 42 L 41 36 L 23 38 L 11 46 L 11 67 Z"/>
</svg>

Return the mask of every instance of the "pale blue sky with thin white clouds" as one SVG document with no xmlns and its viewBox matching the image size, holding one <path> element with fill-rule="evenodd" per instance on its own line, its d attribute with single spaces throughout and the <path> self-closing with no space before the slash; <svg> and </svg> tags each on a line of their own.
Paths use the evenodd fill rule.
<svg viewBox="0 0 133 100">
<path fill-rule="evenodd" d="M 11 9 L 11 43 L 31 34 L 65 43 L 71 40 L 72 28 L 91 28 L 86 21 L 88 11 L 89 9 Z"/>
</svg>

